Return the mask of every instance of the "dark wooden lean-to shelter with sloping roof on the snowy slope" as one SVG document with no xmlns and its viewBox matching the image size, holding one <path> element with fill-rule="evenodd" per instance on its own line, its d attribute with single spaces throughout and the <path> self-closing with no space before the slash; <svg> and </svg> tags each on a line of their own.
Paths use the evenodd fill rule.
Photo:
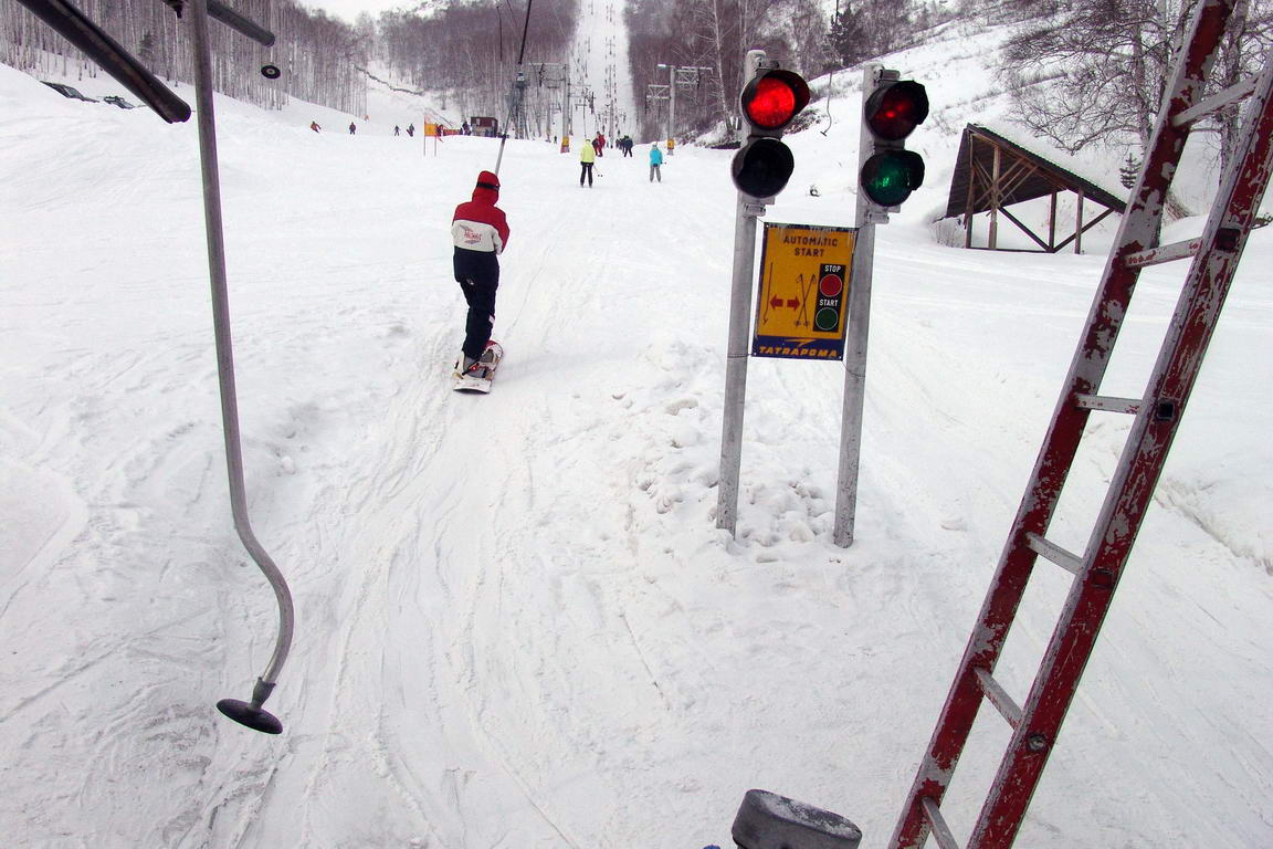
<svg viewBox="0 0 1273 849">
<path fill-rule="evenodd" d="M 1078 195 L 1074 232 L 1057 241 L 1057 196 L 1060 192 Z M 1048 216 L 1048 238 L 1034 230 L 1008 211 L 1008 206 L 1039 197 L 1051 199 Z M 1085 204 L 1092 201 L 1104 211 L 1090 221 L 1085 220 Z M 1127 201 L 1101 188 L 1085 177 L 1062 168 L 1045 155 L 1027 150 L 1018 141 L 988 127 L 970 123 L 964 129 L 959 145 L 959 162 L 951 178 L 951 195 L 943 218 L 964 218 L 964 247 L 973 247 L 973 216 L 990 214 L 990 234 L 987 247 L 998 248 L 999 215 L 1016 224 L 1041 251 L 1057 253 L 1074 243 L 1074 253 L 1082 252 L 1083 233 L 1101 223 L 1110 213 L 1124 213 Z"/>
</svg>

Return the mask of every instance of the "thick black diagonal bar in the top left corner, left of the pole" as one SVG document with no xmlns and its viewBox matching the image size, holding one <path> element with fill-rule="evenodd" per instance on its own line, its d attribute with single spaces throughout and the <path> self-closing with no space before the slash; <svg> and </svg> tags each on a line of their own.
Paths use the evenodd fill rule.
<svg viewBox="0 0 1273 849">
<path fill-rule="evenodd" d="M 69 0 L 18 0 L 33 15 L 97 62 L 168 123 L 190 120 L 190 104 L 159 81 L 129 51 L 88 19 Z"/>
</svg>

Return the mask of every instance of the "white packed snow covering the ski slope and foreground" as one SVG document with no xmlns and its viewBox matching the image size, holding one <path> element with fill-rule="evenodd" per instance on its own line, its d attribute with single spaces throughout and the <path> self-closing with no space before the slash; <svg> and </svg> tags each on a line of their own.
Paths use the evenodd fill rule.
<svg viewBox="0 0 1273 849">
<path fill-rule="evenodd" d="M 913 57 L 934 103 L 975 83 L 961 57 Z M 852 224 L 834 108 L 766 220 Z M 250 510 L 297 603 L 269 737 L 214 709 L 276 610 L 230 519 L 195 125 L 0 67 L 4 845 L 699 849 L 765 788 L 883 846 L 1105 262 L 1095 235 L 934 242 L 970 108 L 917 136 L 932 182 L 878 232 L 840 549 L 839 363 L 751 361 L 738 533 L 715 528 L 728 153 L 651 185 L 644 145 L 611 150 L 587 190 L 574 154 L 509 141 L 507 359 L 460 396 L 448 228 L 498 141 L 218 99 Z M 1270 263 L 1258 230 L 1022 846 L 1273 845 Z M 1184 272 L 1142 275 L 1105 393 L 1143 392 Z M 1128 426 L 1094 415 L 1060 545 Z M 1040 561 L 998 672 L 1018 700 L 1068 586 Z M 959 835 L 1007 732 L 981 712 Z"/>
</svg>

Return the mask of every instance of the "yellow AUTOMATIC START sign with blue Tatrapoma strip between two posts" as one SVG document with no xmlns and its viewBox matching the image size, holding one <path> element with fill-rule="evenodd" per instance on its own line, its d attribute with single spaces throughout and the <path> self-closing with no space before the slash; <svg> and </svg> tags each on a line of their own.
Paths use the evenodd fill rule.
<svg viewBox="0 0 1273 849">
<path fill-rule="evenodd" d="M 765 224 L 752 356 L 844 359 L 857 230 Z"/>
</svg>

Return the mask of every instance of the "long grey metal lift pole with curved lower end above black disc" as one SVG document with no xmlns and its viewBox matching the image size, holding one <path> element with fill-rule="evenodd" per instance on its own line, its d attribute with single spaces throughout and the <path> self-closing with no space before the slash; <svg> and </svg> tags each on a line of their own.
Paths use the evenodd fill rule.
<svg viewBox="0 0 1273 849">
<path fill-rule="evenodd" d="M 191 25 L 195 48 L 195 104 L 199 123 L 199 158 L 204 178 L 204 221 L 207 232 L 207 266 L 213 288 L 213 327 L 216 336 L 216 374 L 220 382 L 225 463 L 229 472 L 230 509 L 234 530 L 252 560 L 274 588 L 279 605 L 279 633 L 274 654 L 252 691 L 252 706 L 260 712 L 269 698 L 292 648 L 294 610 L 283 573 L 274 565 L 252 532 L 243 484 L 243 452 L 239 442 L 238 398 L 234 389 L 234 353 L 230 339 L 229 295 L 225 285 L 225 237 L 222 227 L 222 191 L 216 164 L 216 117 L 213 111 L 213 62 L 207 37 L 207 0 L 193 0 Z M 224 710 L 224 709 L 223 709 Z M 266 714 L 269 715 L 269 714 Z M 243 718 L 234 717 L 239 722 Z M 272 719 L 272 717 L 270 718 Z M 275 720 L 276 722 L 276 720 Z M 244 723 L 250 724 L 250 723 Z M 255 726 L 253 726 L 255 727 Z M 281 728 L 281 726 L 280 726 Z M 264 731 L 264 728 L 258 728 Z M 278 733 L 278 732 L 275 732 Z"/>
</svg>

